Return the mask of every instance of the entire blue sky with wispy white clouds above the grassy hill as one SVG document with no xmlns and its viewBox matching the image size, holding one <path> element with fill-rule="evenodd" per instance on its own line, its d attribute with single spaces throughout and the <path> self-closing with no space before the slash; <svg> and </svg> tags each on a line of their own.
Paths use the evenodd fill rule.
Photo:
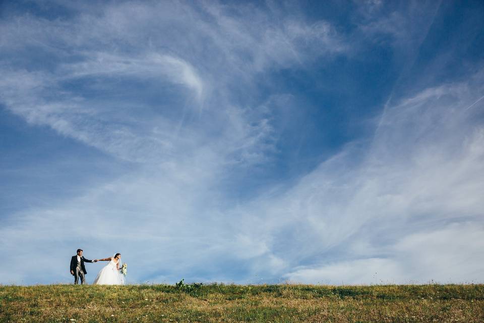
<svg viewBox="0 0 484 323">
<path fill-rule="evenodd" d="M 78 248 L 131 284 L 484 283 L 482 1 L 4 1 L 0 31 L 0 284 Z"/>
</svg>

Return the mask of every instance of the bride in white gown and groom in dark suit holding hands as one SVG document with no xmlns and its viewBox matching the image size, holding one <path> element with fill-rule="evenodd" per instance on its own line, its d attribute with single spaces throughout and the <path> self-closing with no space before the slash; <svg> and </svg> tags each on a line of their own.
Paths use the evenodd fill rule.
<svg viewBox="0 0 484 323">
<path fill-rule="evenodd" d="M 74 276 L 74 284 L 77 285 L 79 283 L 79 278 L 81 278 L 81 285 L 86 283 L 87 274 L 86 267 L 84 266 L 84 262 L 98 262 L 98 261 L 109 261 L 107 265 L 105 265 L 99 274 L 97 274 L 96 279 L 94 280 L 93 285 L 124 285 L 125 278 L 119 272 L 122 270 L 122 266 L 120 266 L 121 262 L 121 254 L 116 253 L 113 257 L 107 257 L 104 259 L 94 259 L 89 260 L 84 258 L 83 250 L 77 249 L 77 255 L 72 256 L 71 258 L 71 275 Z M 125 273 L 126 274 L 126 273 Z"/>
</svg>

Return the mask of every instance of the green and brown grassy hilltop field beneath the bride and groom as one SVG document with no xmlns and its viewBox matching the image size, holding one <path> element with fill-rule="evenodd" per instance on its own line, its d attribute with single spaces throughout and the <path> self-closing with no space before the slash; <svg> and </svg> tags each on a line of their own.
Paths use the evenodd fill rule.
<svg viewBox="0 0 484 323">
<path fill-rule="evenodd" d="M 2 322 L 484 322 L 484 285 L 0 286 Z"/>
</svg>

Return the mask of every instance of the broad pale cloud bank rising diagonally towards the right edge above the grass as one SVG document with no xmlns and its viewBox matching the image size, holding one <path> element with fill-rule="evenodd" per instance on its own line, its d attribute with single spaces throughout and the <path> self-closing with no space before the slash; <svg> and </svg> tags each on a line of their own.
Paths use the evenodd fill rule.
<svg viewBox="0 0 484 323">
<path fill-rule="evenodd" d="M 465 110 L 478 84 L 402 99 L 367 152 L 348 145 L 287 192 L 246 205 L 241 228 L 295 266 L 279 272 L 291 281 L 478 281 L 484 128 Z"/>
</svg>

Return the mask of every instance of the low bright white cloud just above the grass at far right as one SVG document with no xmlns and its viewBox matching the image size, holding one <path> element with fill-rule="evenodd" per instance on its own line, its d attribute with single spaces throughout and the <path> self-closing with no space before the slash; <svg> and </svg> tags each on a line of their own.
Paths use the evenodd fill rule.
<svg viewBox="0 0 484 323">
<path fill-rule="evenodd" d="M 410 234 L 388 246 L 386 258 L 338 261 L 295 268 L 288 281 L 322 284 L 476 283 L 484 264 L 482 225 L 451 224 L 435 231 Z"/>
</svg>

